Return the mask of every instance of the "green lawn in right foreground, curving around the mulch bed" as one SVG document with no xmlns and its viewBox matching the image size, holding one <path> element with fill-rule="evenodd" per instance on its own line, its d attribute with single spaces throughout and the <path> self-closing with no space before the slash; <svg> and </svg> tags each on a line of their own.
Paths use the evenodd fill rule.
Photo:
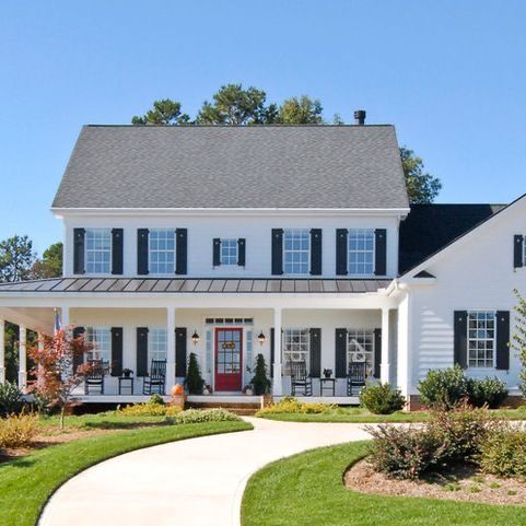
<svg viewBox="0 0 526 526">
<path fill-rule="evenodd" d="M 270 464 L 249 480 L 243 526 L 523 526 L 522 506 L 366 495 L 342 474 L 363 456 L 363 442 L 324 447 Z"/>
</svg>

